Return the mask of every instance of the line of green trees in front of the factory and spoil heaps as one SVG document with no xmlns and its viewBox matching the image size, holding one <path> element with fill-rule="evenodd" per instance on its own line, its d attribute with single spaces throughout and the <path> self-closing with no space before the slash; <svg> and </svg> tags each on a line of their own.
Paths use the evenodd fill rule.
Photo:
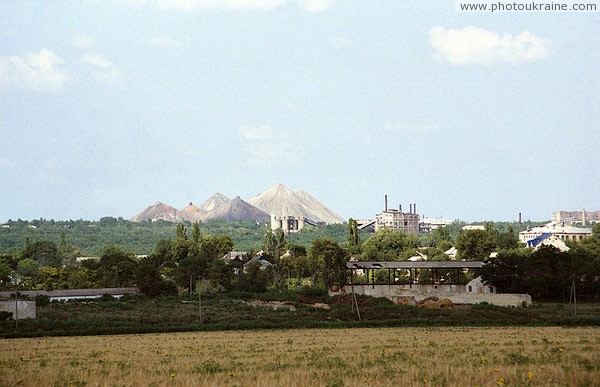
<svg viewBox="0 0 600 387">
<path fill-rule="evenodd" d="M 426 236 L 391 229 L 365 233 L 353 219 L 343 227 L 342 242 L 319 236 L 308 246 L 296 243 L 282 230 L 263 227 L 259 247 L 232 261 L 223 257 L 234 249 L 233 238 L 208 234 L 199 223 L 175 225 L 173 239 L 159 240 L 150 254 L 141 257 L 108 244 L 98 259 L 78 262 L 78 247 L 68 243 L 64 233 L 58 244 L 26 238 L 18 253 L 0 256 L 0 287 L 13 289 L 11 280 L 17 279 L 20 289 L 138 286 L 150 296 L 198 290 L 328 289 L 346 283 L 345 265 L 351 257 L 397 261 L 420 254 L 428 260 L 449 260 L 446 250 L 455 246 L 456 259 L 486 262 L 483 279 L 499 292 L 529 293 L 536 300 L 564 299 L 575 283 L 580 297 L 600 296 L 600 225 L 594 226 L 591 238 L 568 242 L 568 252 L 525 248 L 510 225 L 502 231 L 492 223 L 484 230 L 445 227 Z M 497 254 L 490 256 L 492 252 Z M 259 256 L 269 264 L 253 259 Z M 420 273 L 418 281 L 428 280 L 427 271 Z"/>
</svg>

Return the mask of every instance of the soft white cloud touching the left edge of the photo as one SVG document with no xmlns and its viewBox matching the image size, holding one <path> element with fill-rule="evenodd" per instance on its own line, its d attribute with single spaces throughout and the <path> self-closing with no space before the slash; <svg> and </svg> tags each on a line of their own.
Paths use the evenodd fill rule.
<svg viewBox="0 0 600 387">
<path fill-rule="evenodd" d="M 0 56 L 0 90 L 14 85 L 35 91 L 58 91 L 69 80 L 63 63 L 61 57 L 46 48 L 24 56 Z"/>
</svg>

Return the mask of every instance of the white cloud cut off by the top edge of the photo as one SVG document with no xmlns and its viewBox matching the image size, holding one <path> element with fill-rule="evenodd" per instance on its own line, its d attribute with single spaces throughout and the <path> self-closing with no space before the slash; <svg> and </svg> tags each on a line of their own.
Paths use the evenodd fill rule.
<svg viewBox="0 0 600 387">
<path fill-rule="evenodd" d="M 287 0 L 157 0 L 160 8 L 192 12 L 202 9 L 270 10 L 284 6 Z"/>
</svg>

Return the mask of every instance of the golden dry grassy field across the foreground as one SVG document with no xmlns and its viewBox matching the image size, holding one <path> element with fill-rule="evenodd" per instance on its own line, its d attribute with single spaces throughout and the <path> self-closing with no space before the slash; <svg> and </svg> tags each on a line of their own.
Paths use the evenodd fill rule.
<svg viewBox="0 0 600 387">
<path fill-rule="evenodd" d="M 3 339 L 5 386 L 598 386 L 600 328 L 257 330 Z"/>
</svg>

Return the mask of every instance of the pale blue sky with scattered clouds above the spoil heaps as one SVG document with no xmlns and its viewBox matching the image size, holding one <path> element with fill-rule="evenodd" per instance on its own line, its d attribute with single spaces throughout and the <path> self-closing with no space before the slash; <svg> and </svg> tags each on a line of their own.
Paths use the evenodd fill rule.
<svg viewBox="0 0 600 387">
<path fill-rule="evenodd" d="M 277 183 L 343 218 L 600 210 L 600 13 L 4 0 L 0 222 Z"/>
</svg>

